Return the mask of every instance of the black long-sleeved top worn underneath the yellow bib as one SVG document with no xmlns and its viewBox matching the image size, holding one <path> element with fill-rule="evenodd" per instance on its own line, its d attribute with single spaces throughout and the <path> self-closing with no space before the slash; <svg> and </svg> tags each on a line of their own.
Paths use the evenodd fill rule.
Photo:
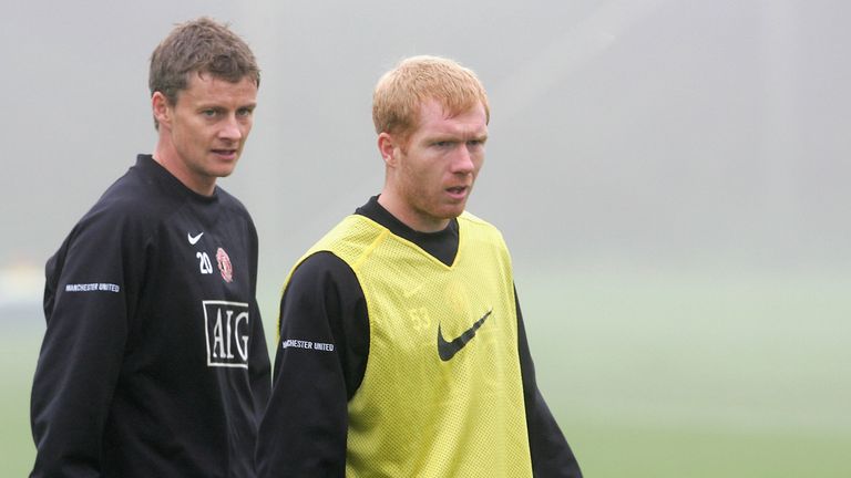
<svg viewBox="0 0 851 478">
<path fill-rule="evenodd" d="M 458 221 L 433 233 L 409 228 L 372 197 L 356 214 L 422 248 L 445 264 L 458 251 Z M 580 477 L 580 467 L 535 383 L 523 320 L 517 308 L 519 351 L 527 432 L 535 476 Z M 278 342 L 275 378 L 258 440 L 258 472 L 277 476 L 344 477 L 348 401 L 369 358 L 369 316 L 355 272 L 330 252 L 317 252 L 294 271 L 280 302 L 280 340 L 310 337 L 334 344 L 334 353 L 287 353 Z M 307 384 L 310 386 L 306 386 Z M 305 393 L 305 391 L 310 393 Z"/>
</svg>

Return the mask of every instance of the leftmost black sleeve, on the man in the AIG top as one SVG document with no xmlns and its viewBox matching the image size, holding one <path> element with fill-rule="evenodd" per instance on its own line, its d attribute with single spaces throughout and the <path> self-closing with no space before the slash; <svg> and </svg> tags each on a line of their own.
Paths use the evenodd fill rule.
<svg viewBox="0 0 851 478">
<path fill-rule="evenodd" d="M 117 214 L 117 212 L 116 212 Z M 116 214 L 81 221 L 48 261 L 47 331 L 32 384 L 32 477 L 100 476 L 104 424 L 126 345 L 143 247 Z M 105 284 L 105 285 L 101 285 Z"/>
</svg>

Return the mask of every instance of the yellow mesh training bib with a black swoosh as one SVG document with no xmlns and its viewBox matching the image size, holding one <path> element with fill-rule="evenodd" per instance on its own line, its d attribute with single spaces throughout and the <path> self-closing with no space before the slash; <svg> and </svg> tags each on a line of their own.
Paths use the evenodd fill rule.
<svg viewBox="0 0 851 478">
<path fill-rule="evenodd" d="M 451 267 L 362 216 L 308 254 L 346 261 L 366 295 L 369 360 L 349 402 L 347 476 L 531 477 L 511 259 L 500 232 L 464 214 Z M 443 361 L 451 342 L 490 314 Z"/>
</svg>

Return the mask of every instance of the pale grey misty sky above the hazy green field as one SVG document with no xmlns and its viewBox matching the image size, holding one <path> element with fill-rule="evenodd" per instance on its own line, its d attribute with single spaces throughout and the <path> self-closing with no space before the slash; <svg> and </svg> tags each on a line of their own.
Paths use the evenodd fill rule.
<svg viewBox="0 0 851 478">
<path fill-rule="evenodd" d="M 458 4 L 463 3 L 463 4 Z M 41 268 L 155 135 L 151 51 L 229 21 L 263 83 L 242 163 L 274 281 L 379 191 L 371 89 L 441 54 L 491 96 L 470 209 L 560 267 L 848 272 L 851 31 L 841 1 L 13 2 L 0 19 L 0 266 Z"/>
</svg>

